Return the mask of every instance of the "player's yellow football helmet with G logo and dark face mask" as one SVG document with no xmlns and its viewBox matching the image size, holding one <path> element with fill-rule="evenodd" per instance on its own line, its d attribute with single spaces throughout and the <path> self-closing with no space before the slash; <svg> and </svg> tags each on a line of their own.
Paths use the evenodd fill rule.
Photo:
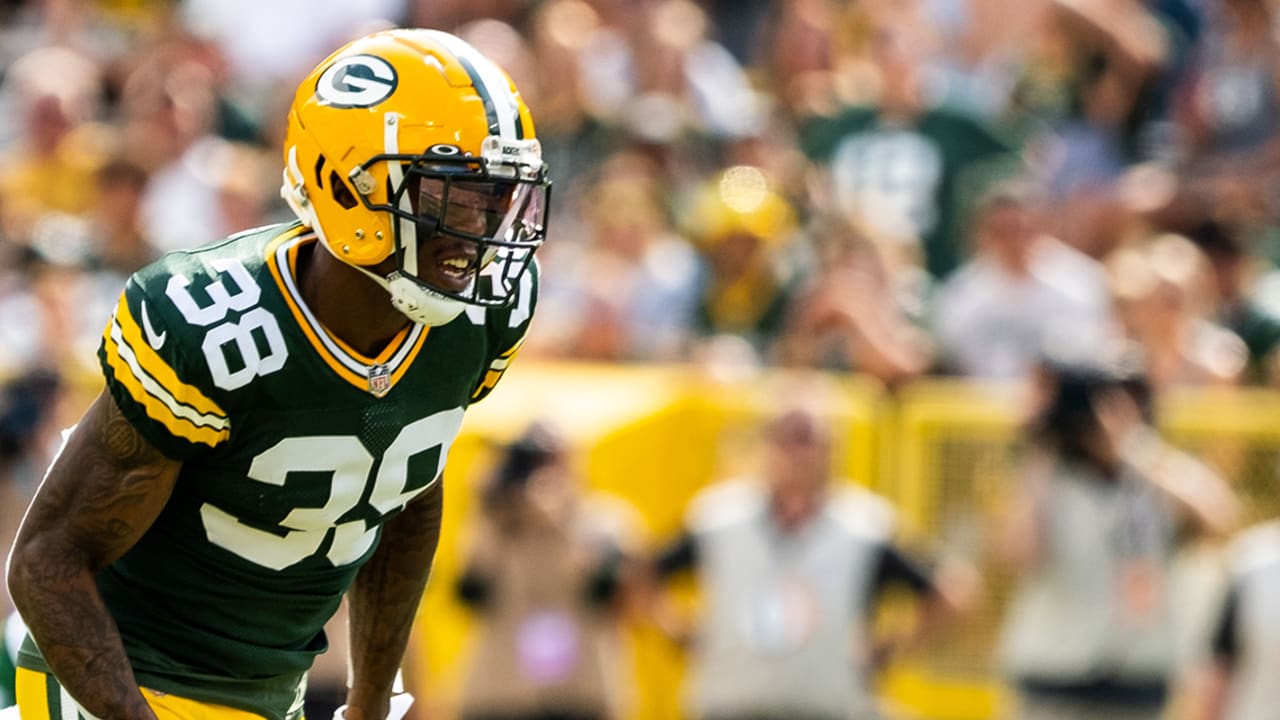
<svg viewBox="0 0 1280 720">
<path fill-rule="evenodd" d="M 302 81 L 280 193 L 329 252 L 436 325 L 515 299 L 547 236 L 550 181 L 498 65 L 445 32 L 390 29 Z"/>
</svg>

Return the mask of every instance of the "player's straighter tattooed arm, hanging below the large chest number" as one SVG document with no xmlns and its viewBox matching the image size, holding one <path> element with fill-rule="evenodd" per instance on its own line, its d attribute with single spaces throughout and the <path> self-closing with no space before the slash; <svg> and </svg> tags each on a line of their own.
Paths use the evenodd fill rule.
<svg viewBox="0 0 1280 720">
<path fill-rule="evenodd" d="M 440 539 L 444 478 L 383 528 L 378 550 L 347 593 L 351 612 L 351 689 L 347 720 L 387 717 L 431 559 Z"/>
</svg>

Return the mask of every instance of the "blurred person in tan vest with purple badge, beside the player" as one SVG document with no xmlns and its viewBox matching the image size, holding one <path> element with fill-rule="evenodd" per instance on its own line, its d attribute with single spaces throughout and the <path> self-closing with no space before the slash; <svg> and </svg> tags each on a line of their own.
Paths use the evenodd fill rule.
<svg viewBox="0 0 1280 720">
<path fill-rule="evenodd" d="M 458 582 L 481 620 L 463 720 L 622 716 L 628 518 L 577 482 L 567 441 L 535 424 L 484 488 Z"/>
</svg>

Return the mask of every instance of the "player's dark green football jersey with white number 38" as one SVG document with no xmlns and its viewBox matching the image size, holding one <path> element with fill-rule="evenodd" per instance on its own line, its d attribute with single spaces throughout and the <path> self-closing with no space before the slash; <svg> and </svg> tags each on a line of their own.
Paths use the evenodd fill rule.
<svg viewBox="0 0 1280 720">
<path fill-rule="evenodd" d="M 308 242 L 275 225 L 166 255 L 129 279 L 99 350 L 123 414 L 183 461 L 97 578 L 138 682 L 279 720 L 301 712 L 383 523 L 440 477 L 463 410 L 520 347 L 538 282 L 531 266 L 511 307 L 411 325 L 364 357 L 298 292 Z M 29 644 L 20 662 L 46 669 Z"/>
</svg>

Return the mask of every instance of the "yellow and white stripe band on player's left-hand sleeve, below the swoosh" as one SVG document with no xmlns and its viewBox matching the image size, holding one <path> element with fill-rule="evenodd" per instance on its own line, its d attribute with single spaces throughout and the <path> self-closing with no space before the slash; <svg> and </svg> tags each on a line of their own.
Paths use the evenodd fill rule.
<svg viewBox="0 0 1280 720">
<path fill-rule="evenodd" d="M 215 446 L 230 434 L 230 420 L 200 389 L 178 379 L 146 341 L 122 299 L 104 334 L 108 364 L 116 380 L 147 416 L 164 424 L 174 436 Z"/>
</svg>

